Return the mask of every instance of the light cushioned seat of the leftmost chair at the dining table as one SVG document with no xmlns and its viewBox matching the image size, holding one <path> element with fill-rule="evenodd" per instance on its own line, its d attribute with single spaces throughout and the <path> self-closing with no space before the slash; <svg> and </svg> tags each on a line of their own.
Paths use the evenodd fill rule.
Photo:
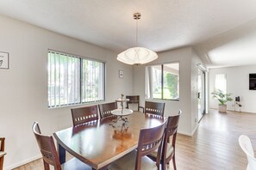
<svg viewBox="0 0 256 170">
<path fill-rule="evenodd" d="M 83 161 L 79 161 L 77 158 L 72 158 L 70 161 L 66 161 L 61 165 L 62 170 L 91 170 L 92 168 L 86 165 Z"/>
</svg>

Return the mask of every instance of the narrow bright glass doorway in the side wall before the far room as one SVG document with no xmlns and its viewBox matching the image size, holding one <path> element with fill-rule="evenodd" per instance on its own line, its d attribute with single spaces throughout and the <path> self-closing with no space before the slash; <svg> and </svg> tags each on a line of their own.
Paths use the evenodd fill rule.
<svg viewBox="0 0 256 170">
<path fill-rule="evenodd" d="M 198 69 L 198 123 L 205 113 L 205 72 Z"/>
</svg>

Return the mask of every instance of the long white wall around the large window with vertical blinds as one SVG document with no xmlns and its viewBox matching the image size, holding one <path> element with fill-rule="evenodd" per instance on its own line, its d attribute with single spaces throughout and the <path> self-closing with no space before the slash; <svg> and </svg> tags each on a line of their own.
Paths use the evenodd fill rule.
<svg viewBox="0 0 256 170">
<path fill-rule="evenodd" d="M 31 130 L 34 121 L 49 135 L 72 125 L 72 106 L 47 108 L 47 49 L 106 61 L 107 101 L 132 94 L 133 68 L 116 61 L 115 52 L 1 15 L 0 22 L 0 52 L 9 52 L 9 70 L 0 70 L 0 137 L 6 137 L 6 169 L 40 155 Z M 118 78 L 118 70 L 124 70 L 124 78 Z"/>
</svg>

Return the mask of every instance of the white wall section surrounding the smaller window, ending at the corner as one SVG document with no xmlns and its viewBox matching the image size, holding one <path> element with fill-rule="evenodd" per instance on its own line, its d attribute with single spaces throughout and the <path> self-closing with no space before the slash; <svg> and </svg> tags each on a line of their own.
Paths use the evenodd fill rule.
<svg viewBox="0 0 256 170">
<path fill-rule="evenodd" d="M 197 80 L 191 81 L 191 78 L 197 79 L 195 75 L 197 73 L 194 71 L 196 65 L 192 64 L 191 66 L 191 52 L 192 48 L 190 47 L 160 52 L 158 53 L 159 58 L 150 63 L 163 64 L 179 62 L 179 101 L 161 100 L 161 102 L 165 102 L 165 116 L 177 114 L 179 109 L 182 110 L 178 132 L 185 135 L 191 135 L 197 126 L 197 123 L 194 121 L 194 118 L 197 116 L 197 103 L 195 104 L 195 97 L 197 97 Z M 194 53 L 194 56 L 194 58 L 197 58 L 196 53 Z M 197 61 L 197 59 L 194 60 Z M 146 96 L 145 66 L 146 65 L 134 66 L 134 94 L 140 94 L 141 106 L 144 106 Z M 193 74 L 191 74 L 191 68 L 193 68 Z M 191 95 L 193 95 L 193 102 L 191 102 Z M 191 108 L 193 108 L 193 110 L 191 110 Z"/>
</svg>

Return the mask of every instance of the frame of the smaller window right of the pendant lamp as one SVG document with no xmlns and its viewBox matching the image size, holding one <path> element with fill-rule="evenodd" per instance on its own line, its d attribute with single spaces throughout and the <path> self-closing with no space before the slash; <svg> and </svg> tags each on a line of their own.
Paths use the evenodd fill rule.
<svg viewBox="0 0 256 170">
<path fill-rule="evenodd" d="M 164 65 L 165 64 L 178 64 L 178 99 L 164 99 Z M 152 66 L 160 66 L 161 67 L 161 98 L 148 98 L 147 94 L 147 67 L 152 67 Z M 168 63 L 159 63 L 159 64 L 148 64 L 146 66 L 146 100 L 173 100 L 173 101 L 179 101 L 180 99 L 180 62 L 179 61 L 173 61 L 173 62 L 168 62 Z"/>
</svg>

